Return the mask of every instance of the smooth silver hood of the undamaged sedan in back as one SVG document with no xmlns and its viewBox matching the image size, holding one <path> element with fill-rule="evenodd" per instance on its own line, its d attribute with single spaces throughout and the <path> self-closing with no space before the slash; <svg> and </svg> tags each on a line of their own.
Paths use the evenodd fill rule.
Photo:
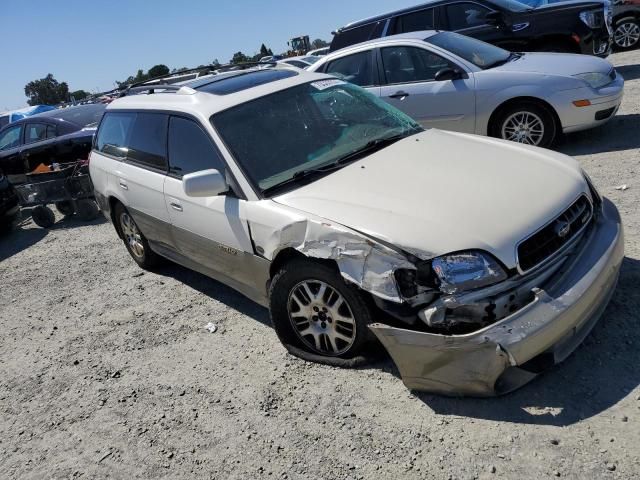
<svg viewBox="0 0 640 480">
<path fill-rule="evenodd" d="M 605 75 L 613 66 L 607 60 L 591 55 L 570 53 L 525 53 L 522 57 L 496 67 L 495 71 L 531 72 L 546 75 L 577 75 L 600 72 Z"/>
</svg>

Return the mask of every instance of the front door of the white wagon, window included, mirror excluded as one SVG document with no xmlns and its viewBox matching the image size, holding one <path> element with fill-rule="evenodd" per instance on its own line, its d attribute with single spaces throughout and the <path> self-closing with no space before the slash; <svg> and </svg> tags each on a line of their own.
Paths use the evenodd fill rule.
<svg viewBox="0 0 640 480">
<path fill-rule="evenodd" d="M 240 283 L 252 284 L 253 256 L 243 202 L 233 192 L 211 197 L 188 197 L 182 177 L 226 166 L 209 135 L 194 120 L 172 116 L 168 136 L 169 174 L 164 197 L 179 253 L 193 262 Z"/>
</svg>

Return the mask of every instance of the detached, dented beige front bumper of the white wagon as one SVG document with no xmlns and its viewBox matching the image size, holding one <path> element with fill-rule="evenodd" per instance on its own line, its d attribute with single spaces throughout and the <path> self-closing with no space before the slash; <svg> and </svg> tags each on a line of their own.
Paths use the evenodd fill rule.
<svg viewBox="0 0 640 480">
<path fill-rule="evenodd" d="M 535 299 L 499 322 L 465 335 L 373 324 L 411 390 L 492 396 L 512 391 L 569 356 L 591 331 L 615 289 L 624 258 L 616 207 L 602 215 L 582 251 Z"/>
</svg>

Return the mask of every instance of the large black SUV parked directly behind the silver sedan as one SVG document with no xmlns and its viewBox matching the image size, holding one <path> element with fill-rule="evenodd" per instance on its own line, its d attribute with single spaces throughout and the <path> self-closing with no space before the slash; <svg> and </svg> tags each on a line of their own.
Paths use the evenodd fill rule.
<svg viewBox="0 0 640 480">
<path fill-rule="evenodd" d="M 608 2 L 573 1 L 533 8 L 515 0 L 433 0 L 351 23 L 334 32 L 331 51 L 419 30 L 451 30 L 511 51 L 611 51 Z"/>
</svg>

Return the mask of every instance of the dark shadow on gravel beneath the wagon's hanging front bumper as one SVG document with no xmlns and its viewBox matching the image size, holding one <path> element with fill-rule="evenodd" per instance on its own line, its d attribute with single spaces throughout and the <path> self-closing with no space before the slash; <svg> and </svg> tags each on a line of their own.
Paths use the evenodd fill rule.
<svg viewBox="0 0 640 480">
<path fill-rule="evenodd" d="M 620 402 L 640 384 L 640 261 L 625 258 L 618 288 L 585 342 L 562 364 L 511 394 L 446 398 L 417 393 L 441 415 L 566 426 Z"/>
</svg>

